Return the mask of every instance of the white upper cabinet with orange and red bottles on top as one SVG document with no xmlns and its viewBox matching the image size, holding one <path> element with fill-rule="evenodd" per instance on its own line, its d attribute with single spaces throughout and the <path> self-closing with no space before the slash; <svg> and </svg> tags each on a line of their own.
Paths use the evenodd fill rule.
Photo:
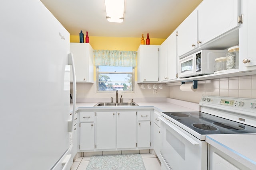
<svg viewBox="0 0 256 170">
<path fill-rule="evenodd" d="M 137 51 L 137 81 L 158 82 L 158 48 L 160 45 L 140 45 Z"/>
</svg>

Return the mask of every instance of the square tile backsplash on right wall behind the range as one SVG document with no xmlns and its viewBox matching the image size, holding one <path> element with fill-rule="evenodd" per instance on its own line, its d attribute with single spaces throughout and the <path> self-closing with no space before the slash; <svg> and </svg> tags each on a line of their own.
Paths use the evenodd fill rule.
<svg viewBox="0 0 256 170">
<path fill-rule="evenodd" d="M 170 86 L 170 98 L 199 103 L 203 94 L 256 98 L 256 75 L 198 81 L 196 92 L 182 92 L 180 86 Z"/>
</svg>

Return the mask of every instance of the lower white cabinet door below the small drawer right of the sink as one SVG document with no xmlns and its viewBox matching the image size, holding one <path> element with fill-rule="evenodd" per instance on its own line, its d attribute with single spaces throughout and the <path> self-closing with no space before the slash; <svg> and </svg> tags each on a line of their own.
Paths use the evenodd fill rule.
<svg viewBox="0 0 256 170">
<path fill-rule="evenodd" d="M 138 148 L 150 147 L 150 121 L 138 121 Z"/>
</svg>

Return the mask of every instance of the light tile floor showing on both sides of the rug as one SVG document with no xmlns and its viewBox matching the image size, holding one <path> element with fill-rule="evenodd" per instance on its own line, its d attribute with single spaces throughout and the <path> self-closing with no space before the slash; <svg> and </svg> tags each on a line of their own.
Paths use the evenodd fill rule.
<svg viewBox="0 0 256 170">
<path fill-rule="evenodd" d="M 150 153 L 140 154 L 146 170 L 161 170 L 161 163 L 157 156 Z M 86 170 L 91 156 L 81 156 L 74 160 L 71 170 Z"/>
</svg>

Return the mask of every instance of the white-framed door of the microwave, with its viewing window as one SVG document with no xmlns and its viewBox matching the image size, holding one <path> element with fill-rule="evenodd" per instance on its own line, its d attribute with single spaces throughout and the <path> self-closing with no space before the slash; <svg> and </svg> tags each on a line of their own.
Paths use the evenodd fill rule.
<svg viewBox="0 0 256 170">
<path fill-rule="evenodd" d="M 196 74 L 194 54 L 180 59 L 178 74 L 179 77 L 194 76 Z"/>
</svg>

